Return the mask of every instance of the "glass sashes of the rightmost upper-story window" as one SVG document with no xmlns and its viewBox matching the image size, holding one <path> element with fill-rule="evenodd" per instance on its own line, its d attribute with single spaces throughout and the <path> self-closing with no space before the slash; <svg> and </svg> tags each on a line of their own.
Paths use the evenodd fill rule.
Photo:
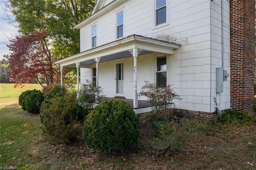
<svg viewBox="0 0 256 170">
<path fill-rule="evenodd" d="M 156 0 L 156 25 L 166 23 L 166 0 Z"/>
</svg>

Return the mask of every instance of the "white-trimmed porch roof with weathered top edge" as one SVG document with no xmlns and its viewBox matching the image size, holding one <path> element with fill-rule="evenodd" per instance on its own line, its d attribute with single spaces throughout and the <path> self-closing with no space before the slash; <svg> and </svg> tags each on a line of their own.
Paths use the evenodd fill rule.
<svg viewBox="0 0 256 170">
<path fill-rule="evenodd" d="M 157 40 L 144 36 L 132 35 L 102 46 L 80 52 L 73 56 L 58 60 L 55 63 L 64 67 L 76 67 L 76 63 L 80 62 L 80 68 L 90 68 L 95 64 L 94 58 L 101 57 L 100 62 L 132 57 L 130 50 L 137 48 L 140 50 L 139 55 L 149 54 L 153 52 L 161 52 L 164 54 L 174 54 L 174 49 L 178 49 L 180 45 L 173 44 L 163 40 Z"/>
</svg>

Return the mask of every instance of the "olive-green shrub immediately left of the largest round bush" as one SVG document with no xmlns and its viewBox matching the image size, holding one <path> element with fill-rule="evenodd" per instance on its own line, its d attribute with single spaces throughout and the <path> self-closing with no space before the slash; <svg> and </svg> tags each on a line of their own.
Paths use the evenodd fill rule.
<svg viewBox="0 0 256 170">
<path fill-rule="evenodd" d="M 42 130 L 51 144 L 70 143 L 81 133 L 78 126 L 76 93 L 46 100 L 40 109 Z"/>
</svg>

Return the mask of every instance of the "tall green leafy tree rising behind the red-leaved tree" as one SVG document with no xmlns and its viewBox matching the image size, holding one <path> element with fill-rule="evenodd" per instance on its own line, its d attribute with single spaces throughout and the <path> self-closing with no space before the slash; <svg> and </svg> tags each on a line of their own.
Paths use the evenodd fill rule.
<svg viewBox="0 0 256 170">
<path fill-rule="evenodd" d="M 8 20 L 18 23 L 20 34 L 48 33 L 52 58 L 61 59 L 80 52 L 80 32 L 74 26 L 90 16 L 94 4 L 95 0 L 7 0 L 5 10 L 14 14 L 15 19 Z"/>
</svg>

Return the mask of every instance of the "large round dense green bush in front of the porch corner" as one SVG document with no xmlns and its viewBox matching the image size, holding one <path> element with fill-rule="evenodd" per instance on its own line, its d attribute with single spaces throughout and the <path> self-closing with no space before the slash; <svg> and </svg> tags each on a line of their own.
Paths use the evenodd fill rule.
<svg viewBox="0 0 256 170">
<path fill-rule="evenodd" d="M 104 100 L 86 116 L 84 139 L 89 148 L 115 153 L 138 142 L 139 118 L 121 100 Z"/>
</svg>

